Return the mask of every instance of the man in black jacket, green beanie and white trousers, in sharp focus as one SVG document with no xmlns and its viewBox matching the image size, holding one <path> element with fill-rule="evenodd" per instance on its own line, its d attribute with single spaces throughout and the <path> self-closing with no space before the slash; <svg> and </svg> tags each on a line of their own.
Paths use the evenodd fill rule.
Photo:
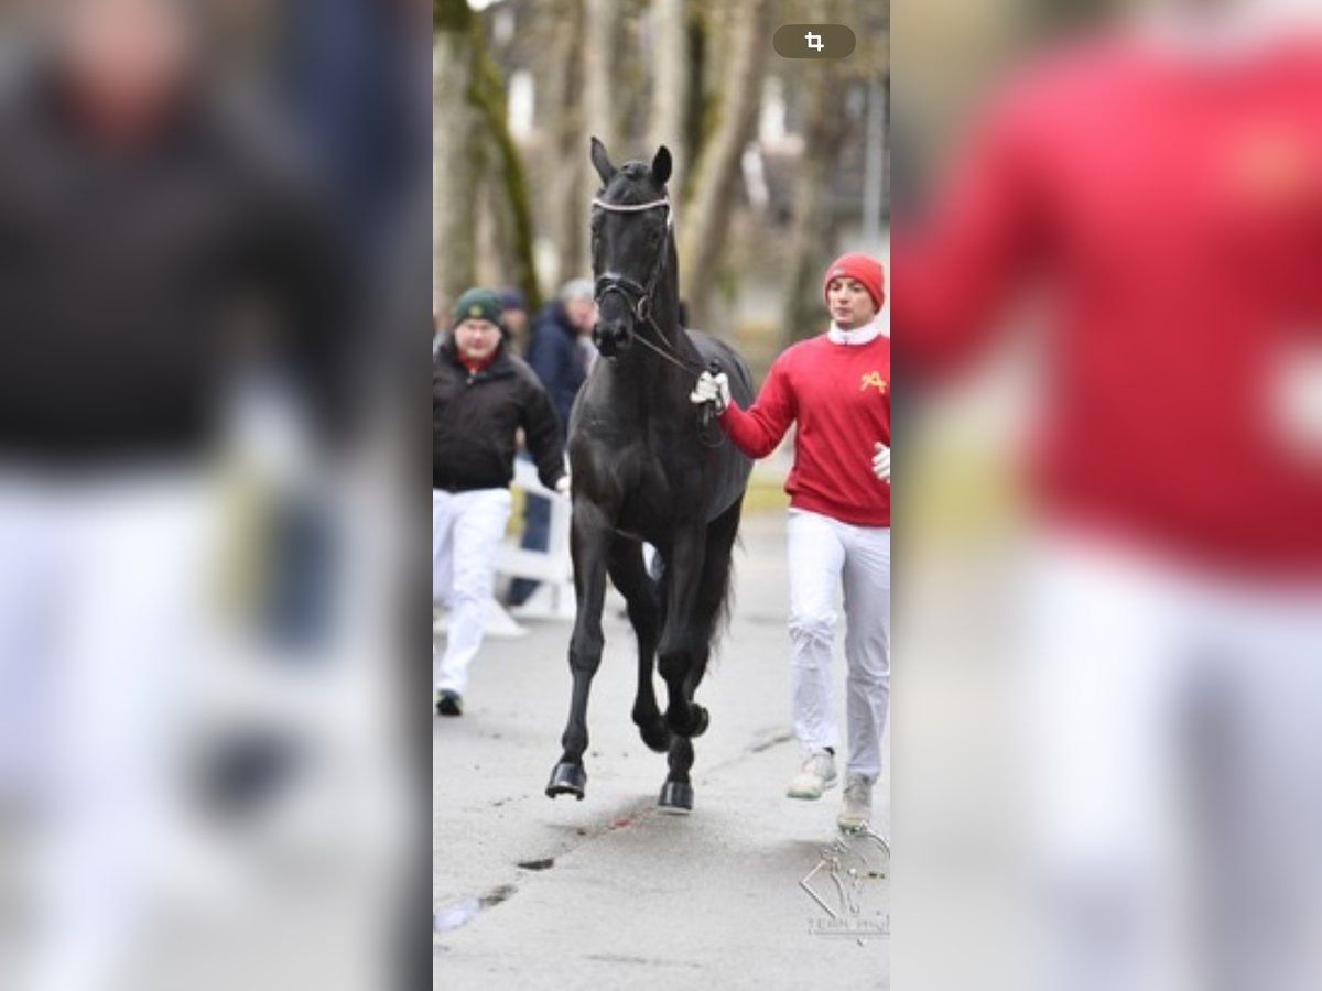
<svg viewBox="0 0 1322 991">
<path fill-rule="evenodd" d="M 451 610 L 436 678 L 444 716 L 463 712 L 468 666 L 483 643 L 520 428 L 542 484 L 568 492 L 555 408 L 533 370 L 508 351 L 500 320 L 496 295 L 469 289 L 432 362 L 432 601 Z"/>
</svg>

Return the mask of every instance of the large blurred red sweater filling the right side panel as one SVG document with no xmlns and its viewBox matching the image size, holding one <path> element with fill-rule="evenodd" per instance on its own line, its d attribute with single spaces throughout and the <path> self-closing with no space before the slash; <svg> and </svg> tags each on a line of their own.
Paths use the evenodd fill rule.
<svg viewBox="0 0 1322 991">
<path fill-rule="evenodd" d="M 1044 280 L 1048 513 L 1236 571 L 1322 572 L 1322 459 L 1273 408 L 1281 365 L 1322 345 L 1322 50 L 1066 53 L 999 102 L 947 192 L 924 230 L 895 229 L 907 374 L 974 355 Z"/>
</svg>

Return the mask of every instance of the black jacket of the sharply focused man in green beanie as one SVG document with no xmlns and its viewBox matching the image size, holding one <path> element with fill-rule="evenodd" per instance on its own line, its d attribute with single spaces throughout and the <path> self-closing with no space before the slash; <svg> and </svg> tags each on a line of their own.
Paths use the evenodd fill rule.
<svg viewBox="0 0 1322 991">
<path fill-rule="evenodd" d="M 447 336 L 431 366 L 431 485 L 447 492 L 498 489 L 514 477 L 516 432 L 524 428 L 542 485 L 564 474 L 555 410 L 527 365 L 504 345 L 469 374 Z"/>
</svg>

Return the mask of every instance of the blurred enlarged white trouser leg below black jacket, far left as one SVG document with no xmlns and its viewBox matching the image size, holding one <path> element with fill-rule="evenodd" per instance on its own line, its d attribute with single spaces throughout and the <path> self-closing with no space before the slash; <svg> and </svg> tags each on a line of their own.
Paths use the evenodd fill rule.
<svg viewBox="0 0 1322 991">
<path fill-rule="evenodd" d="M 49 822 L 38 859 L 49 928 L 34 991 L 118 988 L 161 877 L 175 731 L 206 642 L 213 518 L 204 484 L 127 480 L 56 495 L 59 558 L 49 708 Z"/>
</svg>

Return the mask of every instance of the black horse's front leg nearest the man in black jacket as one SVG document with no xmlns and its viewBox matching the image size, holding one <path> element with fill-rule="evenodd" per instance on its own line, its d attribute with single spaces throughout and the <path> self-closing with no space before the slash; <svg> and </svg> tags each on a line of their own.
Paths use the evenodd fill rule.
<svg viewBox="0 0 1322 991">
<path fill-rule="evenodd" d="M 586 499 L 574 502 L 574 522 L 570 547 L 574 555 L 574 591 L 578 593 L 578 614 L 570 638 L 570 673 L 574 694 L 570 700 L 570 719 L 561 744 L 564 748 L 559 764 L 551 770 L 546 786 L 549 798 L 576 795 L 580 801 L 587 788 L 583 770 L 583 752 L 587 749 L 587 700 L 592 691 L 592 678 L 602 665 L 602 608 L 605 603 L 605 568 L 611 546 L 611 523 L 596 505 Z"/>
</svg>

